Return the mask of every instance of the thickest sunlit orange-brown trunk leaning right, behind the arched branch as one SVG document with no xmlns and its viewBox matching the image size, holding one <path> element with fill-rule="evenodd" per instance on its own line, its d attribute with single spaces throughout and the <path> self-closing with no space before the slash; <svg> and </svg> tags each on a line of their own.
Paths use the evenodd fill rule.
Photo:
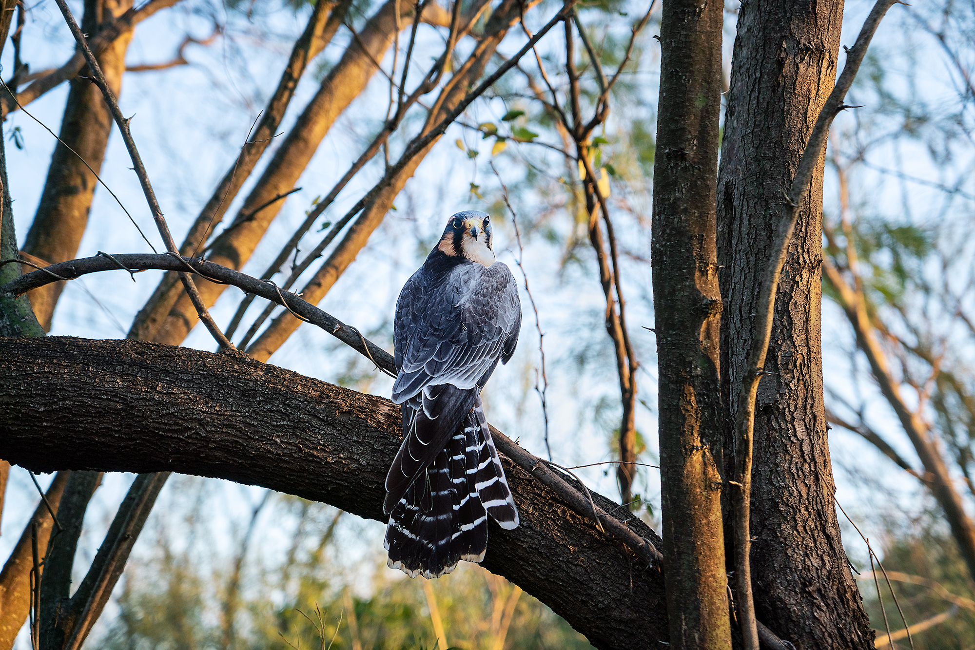
<svg viewBox="0 0 975 650">
<path fill-rule="evenodd" d="M 396 8 L 400 19 L 396 18 Z M 275 151 L 267 169 L 237 212 L 231 225 L 217 236 L 208 259 L 217 264 L 240 269 L 251 258 L 267 227 L 284 205 L 275 201 L 290 192 L 301 173 L 318 150 L 319 144 L 329 133 L 332 124 L 352 100 L 365 90 L 372 75 L 378 70 L 376 61 L 389 49 L 400 28 L 409 26 L 413 6 L 409 2 L 388 0 L 366 23 L 357 37 L 353 38 L 341 60 L 331 69 L 322 82 L 318 93 L 298 116 L 292 131 Z M 424 14 L 426 11 L 424 10 Z M 432 12 L 431 12 L 432 13 Z M 429 18 L 429 17 L 427 17 Z M 443 18 L 443 17 L 442 17 Z M 208 307 L 213 306 L 225 287 L 200 280 L 200 294 Z M 152 325 L 144 329 L 144 338 L 158 343 L 178 345 L 196 325 L 197 315 L 189 297 L 176 287 L 177 298 L 169 313 L 153 331 Z M 158 318 L 165 306 L 160 302 L 152 315 L 141 317 L 147 323 Z"/>
</svg>

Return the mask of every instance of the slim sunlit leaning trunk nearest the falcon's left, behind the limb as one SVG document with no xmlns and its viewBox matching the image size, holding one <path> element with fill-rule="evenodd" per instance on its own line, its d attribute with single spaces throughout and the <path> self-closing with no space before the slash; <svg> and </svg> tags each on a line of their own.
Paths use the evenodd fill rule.
<svg viewBox="0 0 975 650">
<path fill-rule="evenodd" d="M 469 67 L 463 74 L 458 74 L 450 79 L 447 88 L 444 89 L 435 104 L 438 110 L 427 116 L 421 134 L 429 133 L 437 124 L 448 117 L 450 111 L 467 96 L 469 88 L 484 74 L 488 61 L 494 56 L 497 46 L 508 33 L 508 28 L 516 20 L 521 19 L 523 12 L 524 7 L 515 0 L 505 0 L 494 11 L 485 26 L 484 37 L 468 58 Z M 322 267 L 301 289 L 300 293 L 305 300 L 312 304 L 321 302 L 342 273 L 355 261 L 359 251 L 366 247 L 370 235 L 382 223 L 386 213 L 392 208 L 397 195 L 406 186 L 407 181 L 419 167 L 419 164 L 423 162 L 423 158 L 439 140 L 439 137 L 435 138 L 417 153 L 409 161 L 409 165 L 396 174 L 392 183 L 366 206 L 359 218 L 346 231 L 342 240 L 331 251 L 329 258 L 322 264 Z M 290 312 L 283 312 L 257 337 L 248 348 L 247 353 L 258 361 L 267 361 L 288 340 L 288 337 L 294 333 L 299 325 L 301 322 L 294 318 Z"/>
</svg>

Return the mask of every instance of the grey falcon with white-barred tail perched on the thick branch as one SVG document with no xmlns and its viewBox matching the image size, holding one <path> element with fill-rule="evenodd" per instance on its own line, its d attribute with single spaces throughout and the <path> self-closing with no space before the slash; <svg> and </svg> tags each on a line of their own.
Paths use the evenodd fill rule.
<svg viewBox="0 0 975 650">
<path fill-rule="evenodd" d="M 485 212 L 457 212 L 396 303 L 393 401 L 403 410 L 403 444 L 383 511 L 388 564 L 411 578 L 480 562 L 488 515 L 518 526 L 481 389 L 515 352 L 522 304 L 491 244 Z"/>
</svg>

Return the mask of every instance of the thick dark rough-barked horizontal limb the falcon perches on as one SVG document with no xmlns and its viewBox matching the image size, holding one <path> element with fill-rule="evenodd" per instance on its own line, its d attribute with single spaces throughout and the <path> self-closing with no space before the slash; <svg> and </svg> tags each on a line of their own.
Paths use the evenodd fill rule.
<svg viewBox="0 0 975 650">
<path fill-rule="evenodd" d="M 388 400 L 239 356 L 137 341 L 3 339 L 0 376 L 0 456 L 20 466 L 226 478 L 387 518 L 383 480 L 401 424 Z M 663 577 L 502 460 L 521 525 L 491 525 L 485 567 L 597 647 L 666 641 Z M 639 519 L 628 525 L 657 540 Z"/>
</svg>

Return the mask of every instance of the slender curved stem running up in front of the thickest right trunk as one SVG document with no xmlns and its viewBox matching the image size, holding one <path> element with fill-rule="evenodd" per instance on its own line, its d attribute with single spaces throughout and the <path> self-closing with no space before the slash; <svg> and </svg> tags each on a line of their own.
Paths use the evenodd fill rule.
<svg viewBox="0 0 975 650">
<path fill-rule="evenodd" d="M 752 493 L 752 441 L 755 432 L 755 404 L 759 391 L 759 380 L 764 373 L 765 355 L 772 335 L 772 322 L 775 310 L 775 296 L 782 266 L 785 264 L 792 240 L 793 230 L 799 219 L 800 208 L 809 192 L 809 183 L 819 163 L 820 154 L 826 146 L 826 138 L 834 118 L 845 106 L 843 98 L 849 91 L 863 57 L 867 54 L 870 41 L 877 31 L 880 19 L 897 0 L 878 0 L 870 16 L 860 29 L 853 47 L 846 51 L 846 62 L 839 74 L 837 85 L 827 97 L 816 124 L 802 152 L 799 170 L 793 178 L 792 186 L 786 194 L 782 220 L 772 244 L 772 259 L 766 267 L 761 280 L 761 293 L 756 308 L 755 331 L 738 395 L 738 408 L 735 413 L 735 446 L 738 479 L 742 483 L 739 498 L 735 500 L 735 570 L 738 583 L 738 610 L 741 615 L 742 634 L 748 650 L 758 650 L 759 633 L 755 623 L 755 601 L 752 594 L 752 569 L 750 553 L 752 539 L 750 533 L 750 507 Z"/>
</svg>

